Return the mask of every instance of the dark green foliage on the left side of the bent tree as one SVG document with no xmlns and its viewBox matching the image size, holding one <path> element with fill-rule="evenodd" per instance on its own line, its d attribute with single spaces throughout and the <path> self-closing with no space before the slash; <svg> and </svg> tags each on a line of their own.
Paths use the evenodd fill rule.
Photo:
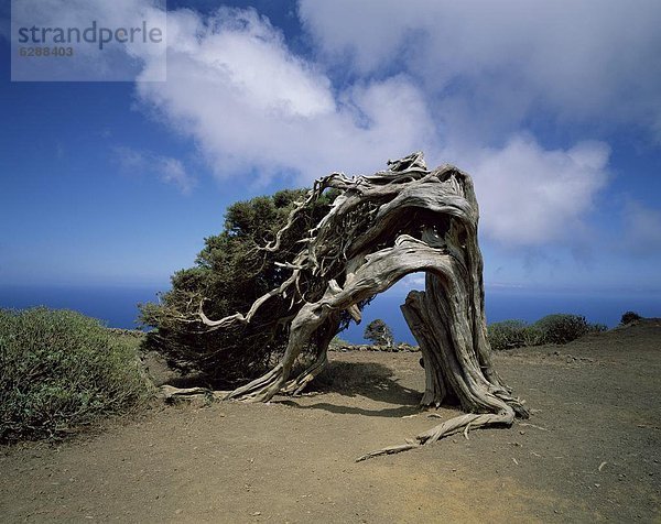
<svg viewBox="0 0 661 524">
<path fill-rule="evenodd" d="M 195 266 L 172 276 L 172 290 L 160 296 L 159 304 L 141 305 L 143 325 L 155 328 L 148 336 L 147 349 L 219 387 L 266 371 L 286 347 L 289 332 L 280 320 L 291 307 L 290 297 L 270 298 L 250 324 L 227 329 L 209 331 L 195 320 L 195 313 L 204 299 L 204 313 L 212 319 L 246 314 L 257 298 L 289 279 L 291 270 L 278 263 L 291 262 L 301 249 L 300 240 L 326 214 L 335 198 L 327 193 L 296 216 L 275 253 L 260 248 L 275 239 L 306 192 L 282 190 L 231 205 L 224 230 L 205 239 Z M 307 299 L 321 297 L 323 287 L 315 287 L 314 281 L 304 284 Z"/>
</svg>

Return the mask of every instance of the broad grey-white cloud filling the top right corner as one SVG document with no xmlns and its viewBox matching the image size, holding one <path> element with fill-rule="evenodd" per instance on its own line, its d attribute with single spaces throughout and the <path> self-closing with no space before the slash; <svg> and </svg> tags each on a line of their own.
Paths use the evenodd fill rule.
<svg viewBox="0 0 661 524">
<path fill-rule="evenodd" d="M 400 67 L 437 96 L 453 135 L 494 141 L 543 110 L 661 140 L 661 2 L 300 0 L 324 59 L 358 75 Z M 454 138 L 451 137 L 451 138 Z"/>
</svg>

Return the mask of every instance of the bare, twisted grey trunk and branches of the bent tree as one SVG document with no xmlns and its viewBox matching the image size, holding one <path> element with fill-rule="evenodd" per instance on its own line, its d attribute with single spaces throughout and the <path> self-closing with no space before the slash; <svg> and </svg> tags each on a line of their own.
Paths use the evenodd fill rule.
<svg viewBox="0 0 661 524">
<path fill-rule="evenodd" d="M 398 452 L 444 436 L 487 425 L 511 425 L 528 416 L 494 369 L 487 340 L 483 259 L 477 242 L 478 206 L 470 177 L 444 165 L 427 170 L 422 153 L 389 162 L 372 176 L 333 173 L 317 179 L 275 239 L 261 248 L 277 253 L 281 239 L 325 192 L 338 196 L 301 240 L 300 251 L 279 265 L 289 271 L 280 286 L 246 313 L 213 320 L 201 302 L 197 318 L 207 329 L 248 325 L 269 301 L 286 299 L 281 319 L 289 329 L 280 362 L 227 399 L 266 402 L 277 393 L 297 393 L 324 368 L 328 343 L 346 312 L 357 321 L 359 306 L 407 274 L 424 272 L 424 292 L 411 292 L 401 306 L 420 343 L 426 375 L 423 406 L 458 402 L 466 412 L 419 435 L 415 443 L 368 454 Z M 299 376 L 292 365 L 306 348 L 316 360 Z"/>
</svg>

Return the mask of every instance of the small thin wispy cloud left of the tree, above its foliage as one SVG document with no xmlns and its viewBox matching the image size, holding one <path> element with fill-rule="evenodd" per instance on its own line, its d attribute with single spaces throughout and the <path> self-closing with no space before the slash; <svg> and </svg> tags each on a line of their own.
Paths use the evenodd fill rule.
<svg viewBox="0 0 661 524">
<path fill-rule="evenodd" d="M 127 146 L 115 148 L 115 154 L 122 172 L 133 176 L 154 176 L 163 184 L 175 186 L 184 195 L 191 194 L 197 185 L 197 179 L 186 173 L 177 159 Z"/>
</svg>

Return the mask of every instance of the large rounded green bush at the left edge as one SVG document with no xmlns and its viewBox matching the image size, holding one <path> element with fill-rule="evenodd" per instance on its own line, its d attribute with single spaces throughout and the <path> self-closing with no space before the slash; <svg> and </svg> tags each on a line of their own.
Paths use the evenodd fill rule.
<svg viewBox="0 0 661 524">
<path fill-rule="evenodd" d="M 71 310 L 0 309 L 0 443 L 57 437 L 144 401 L 138 343 Z"/>
</svg>

